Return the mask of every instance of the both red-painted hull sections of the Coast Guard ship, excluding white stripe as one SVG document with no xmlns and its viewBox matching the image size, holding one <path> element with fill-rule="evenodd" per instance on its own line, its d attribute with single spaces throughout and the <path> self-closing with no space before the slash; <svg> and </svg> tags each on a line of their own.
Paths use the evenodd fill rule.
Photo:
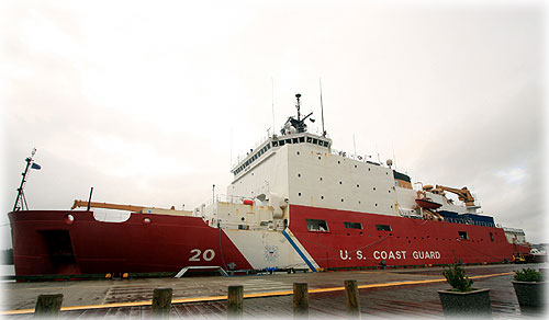
<svg viewBox="0 0 549 320">
<path fill-rule="evenodd" d="M 515 252 L 529 252 L 508 243 L 501 228 L 296 205 L 290 212 L 289 229 L 321 268 L 503 263 L 512 262 Z M 231 263 L 237 270 L 258 268 L 223 229 L 202 218 L 132 214 L 124 222 L 104 222 L 91 212 L 63 210 L 13 212 L 9 217 L 20 276 L 227 270 Z M 328 228 L 310 231 L 306 219 L 325 220 Z M 358 222 L 361 229 L 345 228 L 344 222 Z M 249 241 L 259 240 L 250 236 Z"/>
</svg>

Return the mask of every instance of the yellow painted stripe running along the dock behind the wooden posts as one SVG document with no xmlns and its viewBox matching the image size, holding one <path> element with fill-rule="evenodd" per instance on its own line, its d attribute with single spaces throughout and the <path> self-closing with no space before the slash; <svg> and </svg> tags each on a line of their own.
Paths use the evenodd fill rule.
<svg viewBox="0 0 549 320">
<path fill-rule="evenodd" d="M 494 273 L 494 274 L 485 274 L 485 275 L 475 275 L 470 276 L 471 279 L 484 278 L 484 277 L 494 277 L 494 276 L 503 276 L 511 275 L 514 272 L 504 272 L 504 273 Z M 369 284 L 358 286 L 359 289 L 368 289 L 368 288 L 381 288 L 381 287 L 391 287 L 391 286 L 405 286 L 405 285 L 419 285 L 419 284 L 429 284 L 429 283 L 440 283 L 445 282 L 446 278 L 435 278 L 435 279 L 425 279 L 425 281 L 407 281 L 407 282 L 392 282 L 384 284 Z M 330 287 L 330 288 L 318 288 L 318 289 L 310 289 L 310 294 L 320 294 L 320 293 L 332 293 L 332 292 L 343 292 L 345 287 Z M 290 296 L 293 294 L 293 290 L 285 292 L 270 292 L 270 293 L 256 293 L 256 294 L 245 294 L 244 298 L 265 298 L 265 297 L 278 297 L 278 296 Z M 210 296 L 210 297 L 197 297 L 197 298 L 181 298 L 181 299 L 172 299 L 171 304 L 191 304 L 191 302 L 208 302 L 208 301 L 219 301 L 226 300 L 227 296 Z M 134 301 L 134 302 L 115 302 L 115 304 L 104 304 L 104 305 L 90 305 L 90 306 L 72 306 L 72 307 L 61 307 L 61 311 L 75 311 L 75 310 L 92 310 L 92 309 L 108 309 L 108 308 L 121 308 L 121 307 L 143 307 L 150 306 L 153 300 L 146 301 Z M 26 315 L 33 313 L 34 309 L 21 309 L 21 310 L 4 310 L 0 311 L 1 316 L 10 316 L 10 315 Z"/>
</svg>

